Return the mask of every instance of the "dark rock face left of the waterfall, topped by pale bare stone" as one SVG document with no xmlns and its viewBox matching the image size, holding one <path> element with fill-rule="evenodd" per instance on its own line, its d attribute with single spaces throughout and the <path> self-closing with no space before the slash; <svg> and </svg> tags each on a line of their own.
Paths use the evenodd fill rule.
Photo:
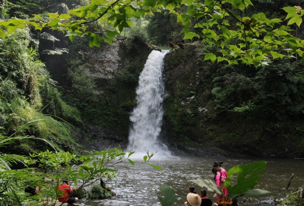
<svg viewBox="0 0 304 206">
<path fill-rule="evenodd" d="M 96 77 L 97 89 L 102 92 L 100 108 L 96 110 L 104 113 L 100 116 L 103 125 L 86 127 L 90 149 L 127 146 L 138 78 L 153 50 L 158 48 L 134 38 L 104 44 L 102 49 L 92 48 L 86 53 L 85 72 Z"/>
</svg>

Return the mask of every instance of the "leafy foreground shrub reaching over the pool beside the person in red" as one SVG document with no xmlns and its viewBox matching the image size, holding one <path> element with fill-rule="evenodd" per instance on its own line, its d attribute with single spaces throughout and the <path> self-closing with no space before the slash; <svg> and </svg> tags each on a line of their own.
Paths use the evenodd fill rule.
<svg viewBox="0 0 304 206">
<path fill-rule="evenodd" d="M 77 194 L 78 190 L 82 187 L 92 185 L 92 183 L 100 181 L 101 178 L 107 178 L 108 180 L 115 178 L 115 172 L 117 171 L 113 169 L 115 165 L 122 162 L 129 162 L 135 165 L 135 162 L 129 159 L 134 151 L 129 151 L 127 154 L 121 148 L 94 152 L 83 151 L 82 153 L 83 154 L 75 155 L 69 152 L 52 152 L 47 150 L 31 155 L 32 158 L 38 159 L 40 168 L 48 168 L 51 171 L 48 177 L 54 180 L 44 195 L 52 199 L 56 198 L 59 194 L 59 184 L 62 180 L 66 179 L 78 187 L 76 190 L 73 190 L 73 193 Z M 147 155 L 143 158 L 144 161 L 141 163 L 147 163 L 152 156 L 153 153 L 147 152 Z M 80 165 L 73 165 L 76 162 L 80 163 Z M 161 169 L 157 166 L 149 165 L 156 169 Z M 94 187 L 91 192 L 92 193 L 88 195 L 89 198 L 96 198 L 97 196 L 100 198 L 101 196 L 99 195 L 101 194 L 103 197 L 107 195 L 104 190 L 101 190 L 100 187 L 97 186 Z M 54 194 L 56 194 L 56 196 L 54 196 Z"/>
</svg>

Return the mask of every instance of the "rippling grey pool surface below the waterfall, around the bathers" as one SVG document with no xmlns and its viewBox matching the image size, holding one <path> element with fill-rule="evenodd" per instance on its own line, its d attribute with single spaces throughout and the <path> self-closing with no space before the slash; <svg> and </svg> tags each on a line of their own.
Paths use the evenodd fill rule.
<svg viewBox="0 0 304 206">
<path fill-rule="evenodd" d="M 131 158 L 132 159 L 132 158 Z M 153 158 L 152 158 L 153 159 Z M 136 159 L 132 159 L 137 161 Z M 267 161 L 267 168 L 261 181 L 255 188 L 269 190 L 272 193 L 264 196 L 240 197 L 239 205 L 259 206 L 273 199 L 281 199 L 290 191 L 295 191 L 304 185 L 303 159 L 232 159 L 232 158 L 211 158 L 211 157 L 167 157 L 154 158 L 149 163 L 161 167 L 159 171 L 146 164 L 136 163 L 135 166 L 129 163 L 117 165 L 118 178 L 109 182 L 108 186 L 116 192 L 117 196 L 106 200 L 86 201 L 81 200 L 81 205 L 86 206 L 161 206 L 158 195 L 162 195 L 159 187 L 162 184 L 172 187 L 178 197 L 175 206 L 182 206 L 186 200 L 188 187 L 194 185 L 196 191 L 202 188 L 192 184 L 189 180 L 203 178 L 213 179 L 211 173 L 215 161 L 223 161 L 223 168 L 229 170 L 241 164 L 247 164 L 259 160 Z M 142 159 L 138 159 L 138 162 Z M 291 174 L 294 173 L 291 185 L 287 191 L 284 190 Z M 213 193 L 208 193 L 213 199 Z M 245 203 L 241 202 L 245 201 Z"/>
</svg>

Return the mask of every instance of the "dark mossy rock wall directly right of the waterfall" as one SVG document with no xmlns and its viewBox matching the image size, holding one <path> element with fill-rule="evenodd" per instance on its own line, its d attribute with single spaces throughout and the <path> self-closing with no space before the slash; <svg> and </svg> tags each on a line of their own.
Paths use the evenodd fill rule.
<svg viewBox="0 0 304 206">
<path fill-rule="evenodd" d="M 213 86 L 210 74 L 216 73 L 216 67 L 203 61 L 201 42 L 185 44 L 184 48 L 176 47 L 165 56 L 165 135 L 178 149 L 223 156 L 220 150 L 208 147 L 210 137 L 206 130 L 210 126 L 209 110 L 212 110 L 206 105 Z"/>
</svg>

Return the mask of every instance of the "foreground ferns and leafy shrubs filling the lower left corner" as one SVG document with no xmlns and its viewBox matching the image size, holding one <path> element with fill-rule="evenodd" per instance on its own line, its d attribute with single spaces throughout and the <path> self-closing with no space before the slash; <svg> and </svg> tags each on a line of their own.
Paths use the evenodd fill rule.
<svg viewBox="0 0 304 206">
<path fill-rule="evenodd" d="M 19 131 L 24 130 L 40 120 L 34 120 L 24 125 Z M 0 149 L 5 146 L 14 144 L 16 141 L 22 139 L 40 139 L 35 137 L 24 136 L 10 136 L 6 137 L 0 135 Z M 43 139 L 40 139 L 43 140 Z M 44 140 L 45 141 L 45 140 Z M 45 141 L 47 142 L 47 141 Z M 49 142 L 47 142 L 49 144 Z M 56 150 L 52 145 L 51 147 Z M 92 182 L 99 181 L 101 178 L 108 179 L 116 177 L 115 169 L 112 169 L 116 164 L 128 161 L 130 164 L 135 165 L 135 162 L 129 159 L 134 151 L 129 151 L 128 154 L 121 148 L 114 148 L 113 150 L 103 151 L 83 151 L 82 155 L 75 155 L 69 152 L 53 152 L 46 150 L 28 156 L 6 154 L 0 152 L 0 204 L 1 206 L 22 206 L 25 204 L 30 205 L 33 199 L 40 200 L 56 199 L 60 193 L 58 187 L 62 180 L 71 180 L 78 189 L 74 190 L 77 193 L 79 189 Z M 143 157 L 143 162 L 147 163 L 153 153 L 147 152 Z M 80 165 L 71 165 L 73 163 L 81 163 Z M 11 166 L 22 164 L 23 169 L 12 169 Z M 147 163 L 148 164 L 148 163 Z M 34 171 L 34 168 L 29 168 L 32 165 L 38 165 L 41 169 L 45 169 L 45 173 Z M 150 166 L 161 169 L 158 166 L 149 164 Z M 111 169 L 110 169 L 111 168 Z M 47 172 L 47 170 L 49 172 Z M 39 186 L 41 191 L 37 196 L 28 197 L 24 192 L 27 186 Z M 43 189 L 42 189 L 43 188 Z M 91 188 L 89 197 L 109 197 L 107 191 L 100 187 Z M 36 202 L 39 203 L 39 202 Z"/>
</svg>

